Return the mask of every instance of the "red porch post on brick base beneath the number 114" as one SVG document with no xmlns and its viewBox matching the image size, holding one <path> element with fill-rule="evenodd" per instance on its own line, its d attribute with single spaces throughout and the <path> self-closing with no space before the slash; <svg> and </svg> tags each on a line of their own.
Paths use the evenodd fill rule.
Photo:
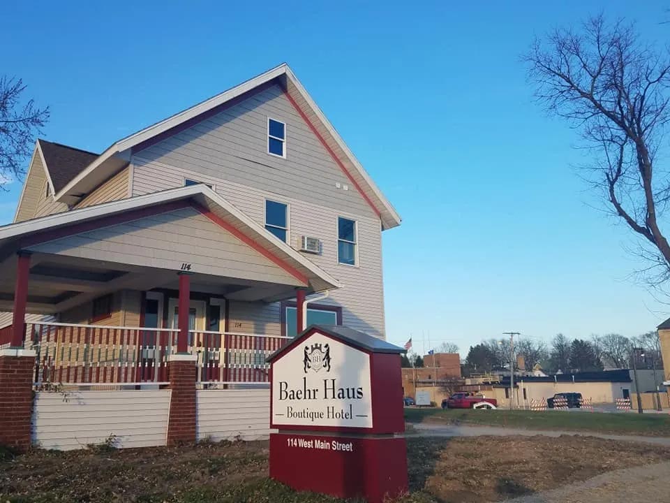
<svg viewBox="0 0 670 503">
<path fill-rule="evenodd" d="M 179 273 L 179 313 L 177 315 L 177 354 L 168 358 L 170 374 L 170 416 L 168 446 L 195 442 L 195 372 L 198 356 L 188 353 L 188 310 L 191 281 Z"/>
</svg>

